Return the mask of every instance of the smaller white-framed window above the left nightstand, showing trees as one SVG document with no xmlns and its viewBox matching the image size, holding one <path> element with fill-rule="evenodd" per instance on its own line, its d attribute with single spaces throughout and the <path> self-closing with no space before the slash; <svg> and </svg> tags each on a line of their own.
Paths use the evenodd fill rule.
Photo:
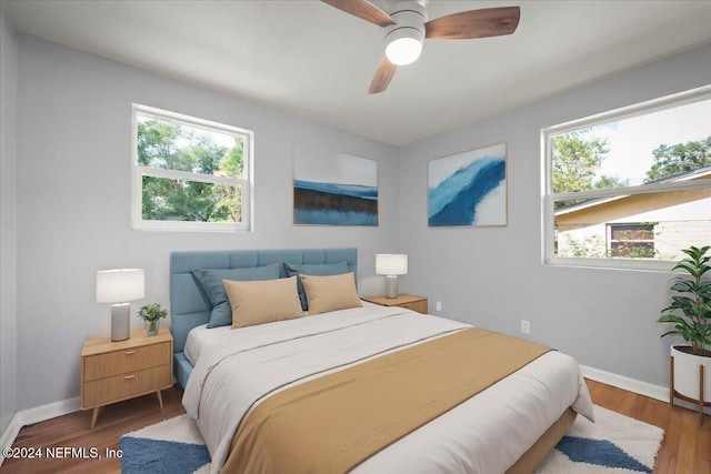
<svg viewBox="0 0 711 474">
<path fill-rule="evenodd" d="M 133 105 L 133 229 L 250 230 L 253 133 Z"/>
</svg>

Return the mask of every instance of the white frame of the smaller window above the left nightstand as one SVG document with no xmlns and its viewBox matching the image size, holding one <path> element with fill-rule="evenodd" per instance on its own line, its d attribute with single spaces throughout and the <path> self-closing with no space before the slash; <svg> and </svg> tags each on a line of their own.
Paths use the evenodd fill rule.
<svg viewBox="0 0 711 474">
<path fill-rule="evenodd" d="M 242 138 L 242 178 L 143 167 L 138 161 L 138 117 Z M 131 229 L 139 231 L 250 232 L 253 215 L 254 132 L 224 123 L 133 103 L 131 108 Z M 158 221 L 143 219 L 143 177 L 241 186 L 242 222 Z"/>
</svg>

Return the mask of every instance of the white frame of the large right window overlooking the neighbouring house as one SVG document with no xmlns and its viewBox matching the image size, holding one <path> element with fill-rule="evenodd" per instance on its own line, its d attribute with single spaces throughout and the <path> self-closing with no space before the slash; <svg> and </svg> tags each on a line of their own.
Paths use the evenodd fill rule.
<svg viewBox="0 0 711 474">
<path fill-rule="evenodd" d="M 711 100 L 711 85 L 692 89 L 689 91 L 653 99 L 629 107 L 614 109 L 611 111 L 598 113 L 583 119 L 572 120 L 541 130 L 541 260 L 543 264 L 561 265 L 561 266 L 580 266 L 580 268 L 601 268 L 601 269 L 620 269 L 620 270 L 649 270 L 649 271 L 670 271 L 675 262 L 651 260 L 651 259 L 623 259 L 623 258 L 575 258 L 575 256 L 558 256 L 555 255 L 555 201 L 560 200 L 580 200 L 580 199 L 614 199 L 619 196 L 629 196 L 637 194 L 650 194 L 669 191 L 685 191 L 693 189 L 711 188 L 711 179 L 647 183 L 644 185 L 633 185 L 624 188 L 612 188 L 607 190 L 591 190 L 580 192 L 552 192 L 552 138 L 562 133 L 572 132 L 588 127 L 600 125 L 603 123 L 630 119 L 633 117 L 647 115 L 667 109 L 673 109 L 680 105 L 687 105 L 694 102 Z M 609 224 L 609 223 L 607 223 Z"/>
</svg>

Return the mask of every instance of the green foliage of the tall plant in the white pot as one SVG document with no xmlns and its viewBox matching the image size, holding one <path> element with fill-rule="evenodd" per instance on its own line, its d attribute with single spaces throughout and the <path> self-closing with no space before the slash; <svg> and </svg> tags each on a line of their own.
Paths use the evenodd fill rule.
<svg viewBox="0 0 711 474">
<path fill-rule="evenodd" d="M 711 355 L 705 345 L 711 345 L 711 280 L 703 275 L 711 271 L 711 256 L 707 256 L 710 245 L 698 249 L 683 249 L 688 258 L 681 260 L 672 271 L 680 270 L 688 274 L 673 278 L 671 291 L 678 293 L 672 296 L 671 304 L 664 307 L 659 323 L 673 323 L 674 329 L 661 336 L 680 335 L 691 343 L 694 355 Z M 709 274 L 711 275 L 711 273 Z"/>
</svg>

